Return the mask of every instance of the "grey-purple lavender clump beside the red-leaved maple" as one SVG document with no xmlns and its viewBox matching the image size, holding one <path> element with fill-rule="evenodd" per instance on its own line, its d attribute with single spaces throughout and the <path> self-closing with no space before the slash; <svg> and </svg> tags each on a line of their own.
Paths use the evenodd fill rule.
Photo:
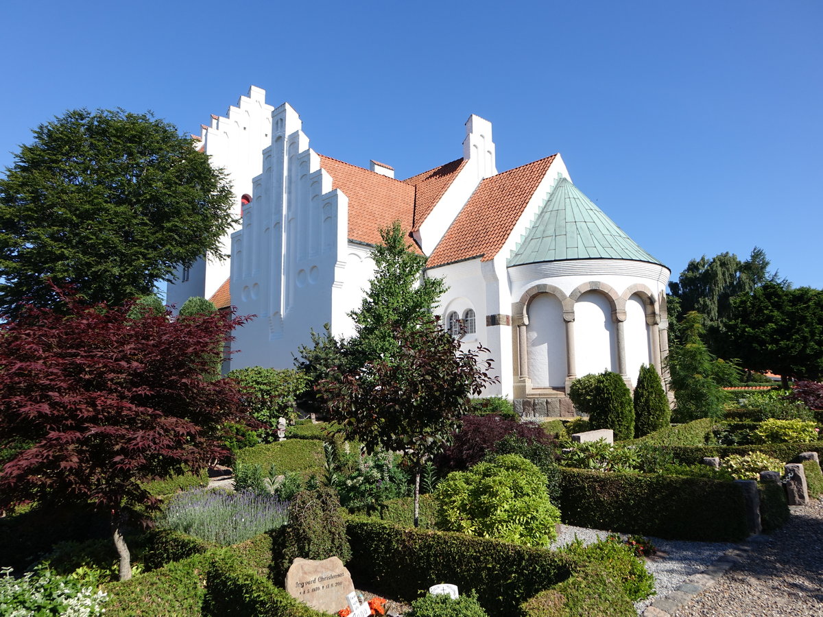
<svg viewBox="0 0 823 617">
<path fill-rule="evenodd" d="M 174 496 L 158 527 L 233 545 L 285 525 L 287 508 L 269 494 L 194 489 Z"/>
</svg>

